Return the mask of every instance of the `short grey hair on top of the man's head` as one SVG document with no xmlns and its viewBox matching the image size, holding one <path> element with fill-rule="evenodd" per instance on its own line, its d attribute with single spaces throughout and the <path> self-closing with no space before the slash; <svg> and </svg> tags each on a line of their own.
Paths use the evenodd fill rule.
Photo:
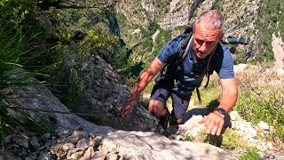
<svg viewBox="0 0 284 160">
<path fill-rule="evenodd" d="M 217 12 L 217 10 L 202 12 L 194 22 L 194 28 L 200 22 L 205 25 L 205 28 L 224 30 L 224 17 L 220 12 Z"/>
</svg>

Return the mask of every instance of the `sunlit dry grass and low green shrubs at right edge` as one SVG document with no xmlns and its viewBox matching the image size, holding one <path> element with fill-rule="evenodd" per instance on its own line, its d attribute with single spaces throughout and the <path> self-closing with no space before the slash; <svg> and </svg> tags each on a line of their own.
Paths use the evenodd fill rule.
<svg viewBox="0 0 284 160">
<path fill-rule="evenodd" d="M 267 139 L 283 140 L 284 86 L 280 83 L 283 77 L 277 71 L 264 70 L 248 69 L 246 74 L 238 76 L 241 92 L 234 109 L 253 124 L 262 120 L 275 127 L 275 131 Z"/>
</svg>

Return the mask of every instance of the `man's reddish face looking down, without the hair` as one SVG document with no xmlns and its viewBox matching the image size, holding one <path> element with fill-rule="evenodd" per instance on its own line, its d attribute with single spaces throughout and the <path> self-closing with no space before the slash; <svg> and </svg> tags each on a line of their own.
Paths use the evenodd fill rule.
<svg viewBox="0 0 284 160">
<path fill-rule="evenodd" d="M 220 29 L 205 28 L 202 22 L 198 23 L 193 32 L 193 51 L 197 59 L 204 59 L 222 39 Z"/>
</svg>

